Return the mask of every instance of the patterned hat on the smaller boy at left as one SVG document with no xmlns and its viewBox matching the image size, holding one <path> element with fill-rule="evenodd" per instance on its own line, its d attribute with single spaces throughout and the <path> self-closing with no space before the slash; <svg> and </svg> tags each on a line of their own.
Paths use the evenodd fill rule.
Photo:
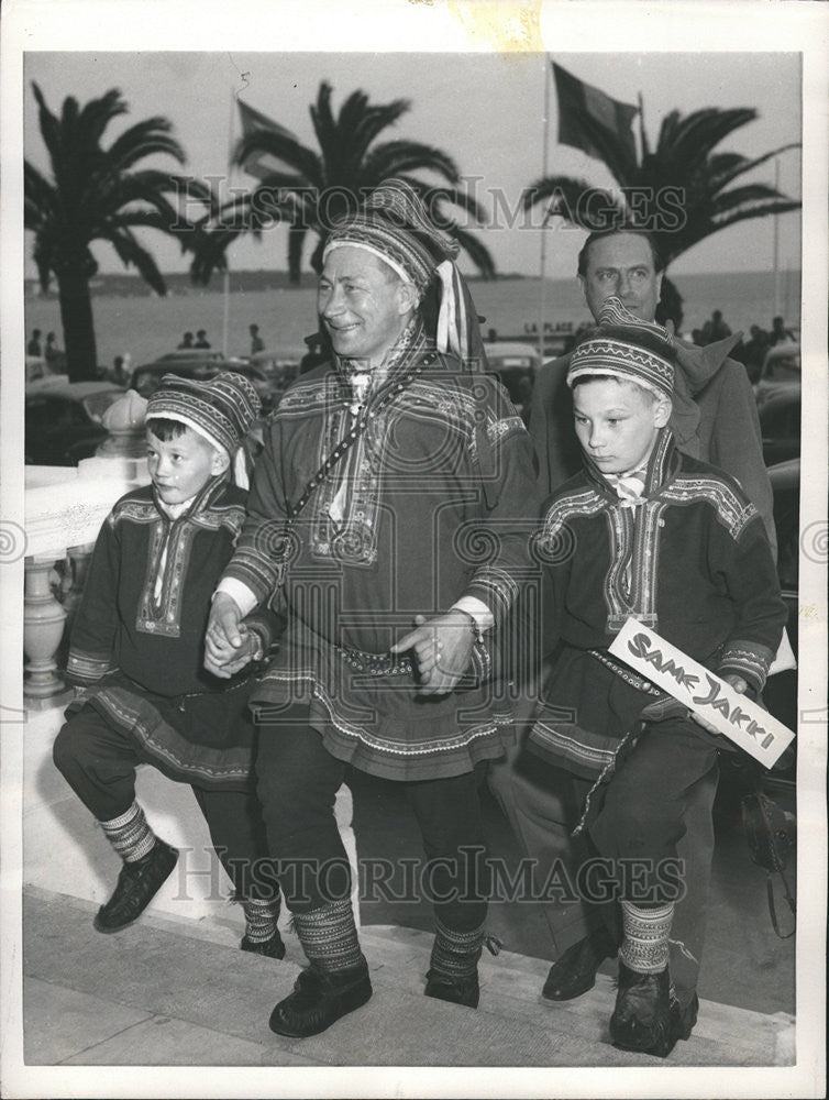
<svg viewBox="0 0 829 1100">
<path fill-rule="evenodd" d="M 242 440 L 261 410 L 258 394 L 241 374 L 224 371 L 209 382 L 165 374 L 147 399 L 146 419 L 164 417 L 192 429 L 228 455 L 236 484 L 246 487 Z"/>
</svg>

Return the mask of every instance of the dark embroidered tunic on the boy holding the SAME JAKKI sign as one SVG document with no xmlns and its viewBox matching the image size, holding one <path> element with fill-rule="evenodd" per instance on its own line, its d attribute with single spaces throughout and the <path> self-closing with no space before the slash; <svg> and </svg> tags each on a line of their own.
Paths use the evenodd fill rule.
<svg viewBox="0 0 829 1100">
<path fill-rule="evenodd" d="M 588 464 L 551 497 L 537 539 L 561 651 L 530 741 L 585 778 L 637 722 L 676 711 L 607 654 L 629 616 L 754 693 L 786 622 L 762 519 L 731 477 L 663 429 L 644 481 L 641 497 L 620 498 Z"/>
</svg>

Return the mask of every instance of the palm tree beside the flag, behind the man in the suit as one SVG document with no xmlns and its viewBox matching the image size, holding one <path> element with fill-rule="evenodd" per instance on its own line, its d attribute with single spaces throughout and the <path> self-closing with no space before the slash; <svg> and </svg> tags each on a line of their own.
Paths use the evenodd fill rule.
<svg viewBox="0 0 829 1100">
<path fill-rule="evenodd" d="M 743 184 L 729 189 L 733 180 L 752 168 L 786 150 L 798 147 L 798 143 L 792 142 L 753 158 L 739 153 L 715 152 L 723 139 L 756 117 L 758 112 L 751 108 L 720 110 L 707 107 L 685 117 L 679 111 L 671 111 L 662 120 L 656 147 L 652 150 L 640 113 L 641 155 L 635 156 L 616 132 L 585 114 L 581 119 L 585 135 L 598 150 L 621 196 L 611 191 L 597 193 L 585 179 L 545 176 L 524 190 L 523 207 L 529 210 L 544 202 L 545 219 L 557 215 L 590 231 L 620 221 L 651 229 L 667 267 L 683 252 L 728 226 L 747 218 L 765 218 L 799 209 L 798 201 L 766 184 Z M 598 201 L 585 202 L 588 191 L 596 195 Z M 667 317 L 678 327 L 682 297 L 665 278 L 657 318 Z"/>
</svg>

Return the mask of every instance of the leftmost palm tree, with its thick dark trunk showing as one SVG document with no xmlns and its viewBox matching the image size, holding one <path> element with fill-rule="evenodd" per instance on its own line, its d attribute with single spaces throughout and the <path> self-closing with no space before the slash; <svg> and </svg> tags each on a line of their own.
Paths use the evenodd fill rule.
<svg viewBox="0 0 829 1100">
<path fill-rule="evenodd" d="M 185 163 L 181 146 L 170 136 L 172 123 L 150 118 L 125 130 L 109 147 L 101 145 L 107 127 L 125 114 L 128 105 L 113 88 L 82 108 L 68 96 L 60 118 L 32 85 L 40 109 L 41 134 L 52 166 L 52 179 L 24 163 L 24 226 L 34 233 L 34 261 L 42 289 L 57 280 L 67 370 L 73 382 L 95 378 L 97 351 L 89 283 L 98 271 L 90 245 L 109 241 L 125 266 L 134 265 L 159 295 L 166 294 L 162 273 L 133 230 L 157 229 L 177 237 L 183 251 L 192 244 L 192 224 L 168 196 L 198 198 L 209 189 L 188 177 L 135 165 L 164 153 Z"/>
</svg>

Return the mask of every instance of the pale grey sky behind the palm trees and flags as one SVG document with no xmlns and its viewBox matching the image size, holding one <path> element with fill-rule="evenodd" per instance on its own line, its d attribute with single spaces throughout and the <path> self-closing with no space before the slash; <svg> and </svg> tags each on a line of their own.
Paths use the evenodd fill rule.
<svg viewBox="0 0 829 1100">
<path fill-rule="evenodd" d="M 652 143 L 665 113 L 674 109 L 687 113 L 703 107 L 751 107 L 758 111 L 758 120 L 726 139 L 722 151 L 753 157 L 800 138 L 800 57 L 796 53 L 553 51 L 549 56 L 616 99 L 635 103 L 641 92 L 645 130 Z M 363 89 L 373 102 L 408 99 L 411 110 L 384 133 L 384 139 L 411 139 L 450 153 L 491 218 L 498 210 L 516 210 L 521 190 L 543 174 L 545 66 L 542 53 L 38 51 L 23 57 L 25 151 L 38 167 L 46 167 L 32 80 L 41 86 L 56 113 L 66 96 L 84 102 L 119 88 L 130 114 L 112 123 L 107 140 L 131 122 L 162 114 L 170 119 L 187 151 L 188 173 L 223 175 L 230 143 L 241 132 L 234 96 L 316 147 L 309 105 L 325 79 L 334 89 L 335 110 L 356 88 Z M 610 185 L 612 180 L 600 162 L 557 143 L 554 88 L 549 95 L 550 173 L 582 177 L 592 185 Z M 159 160 L 157 166 L 175 169 L 170 158 Z M 799 151 L 783 153 L 778 169 L 780 188 L 799 198 Z M 774 162 L 744 177 L 744 182 L 751 180 L 773 184 Z M 239 170 L 230 177 L 230 186 L 253 183 Z M 502 197 L 496 198 L 496 193 Z M 781 266 L 799 267 L 799 215 L 788 213 L 777 221 Z M 482 239 L 499 271 L 539 273 L 541 230 L 535 226 L 489 228 L 482 231 Z M 145 240 L 152 242 L 162 270 L 186 270 L 175 242 L 161 234 L 150 234 Z M 574 273 L 583 240 L 583 232 L 561 223 L 548 232 L 549 277 Z M 102 271 L 123 270 L 108 245 L 96 245 L 95 251 Z M 27 242 L 26 275 L 34 277 L 30 253 Z M 675 262 L 672 272 L 767 270 L 772 256 L 773 219 L 749 220 L 700 242 Z M 235 270 L 284 268 L 285 230 L 270 230 L 263 243 L 237 241 L 230 262 Z M 465 266 L 471 270 L 468 264 Z"/>
</svg>

